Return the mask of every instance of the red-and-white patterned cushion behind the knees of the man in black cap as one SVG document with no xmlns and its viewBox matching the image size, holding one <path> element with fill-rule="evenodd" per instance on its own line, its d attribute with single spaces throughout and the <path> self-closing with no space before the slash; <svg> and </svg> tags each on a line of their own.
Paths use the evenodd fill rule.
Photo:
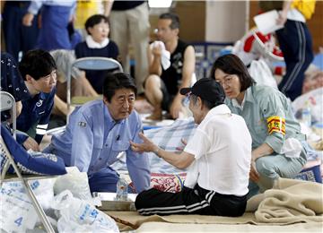
<svg viewBox="0 0 323 233">
<path fill-rule="evenodd" d="M 179 193 L 184 186 L 185 178 L 186 173 L 180 173 L 177 175 L 152 173 L 150 187 L 163 192 Z M 132 189 L 133 193 L 135 193 L 134 184 L 130 183 L 129 186 Z"/>
</svg>

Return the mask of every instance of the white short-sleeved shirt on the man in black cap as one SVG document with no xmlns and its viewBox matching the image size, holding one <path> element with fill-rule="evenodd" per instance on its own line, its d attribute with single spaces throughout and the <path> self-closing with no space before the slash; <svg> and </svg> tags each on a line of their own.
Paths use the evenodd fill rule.
<svg viewBox="0 0 323 233">
<path fill-rule="evenodd" d="M 251 143 L 241 116 L 231 114 L 224 104 L 212 108 L 184 149 L 196 159 L 188 169 L 185 186 L 197 182 L 219 194 L 248 194 Z"/>
</svg>

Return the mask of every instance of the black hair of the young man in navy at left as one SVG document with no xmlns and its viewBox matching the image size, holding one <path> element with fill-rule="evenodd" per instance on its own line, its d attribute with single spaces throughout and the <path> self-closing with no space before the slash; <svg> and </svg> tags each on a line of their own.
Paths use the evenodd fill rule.
<svg viewBox="0 0 323 233">
<path fill-rule="evenodd" d="M 39 80 L 56 69 L 57 65 L 53 56 L 42 49 L 28 51 L 22 56 L 22 61 L 19 64 L 23 80 L 26 80 L 27 74 L 31 75 L 34 80 Z"/>
</svg>

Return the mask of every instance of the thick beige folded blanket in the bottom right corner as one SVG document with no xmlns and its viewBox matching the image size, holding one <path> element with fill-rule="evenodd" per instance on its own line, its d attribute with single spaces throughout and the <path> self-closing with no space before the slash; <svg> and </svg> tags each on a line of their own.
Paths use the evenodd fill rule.
<svg viewBox="0 0 323 233">
<path fill-rule="evenodd" d="M 263 200 L 255 212 L 256 219 L 268 223 L 323 222 L 322 193 L 322 184 L 280 178 L 260 195 Z"/>
</svg>

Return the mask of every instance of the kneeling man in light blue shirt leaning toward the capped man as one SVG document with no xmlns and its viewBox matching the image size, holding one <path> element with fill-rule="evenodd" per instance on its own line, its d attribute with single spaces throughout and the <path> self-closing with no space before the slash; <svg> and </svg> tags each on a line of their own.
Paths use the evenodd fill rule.
<svg viewBox="0 0 323 233">
<path fill-rule="evenodd" d="M 103 100 L 76 108 L 65 133 L 54 135 L 44 150 L 87 172 L 92 192 L 116 192 L 118 173 L 109 166 L 126 151 L 127 169 L 137 193 L 150 186 L 147 155 L 130 148 L 130 140 L 142 142 L 140 116 L 134 110 L 136 86 L 126 73 L 109 73 L 103 84 Z"/>
</svg>

